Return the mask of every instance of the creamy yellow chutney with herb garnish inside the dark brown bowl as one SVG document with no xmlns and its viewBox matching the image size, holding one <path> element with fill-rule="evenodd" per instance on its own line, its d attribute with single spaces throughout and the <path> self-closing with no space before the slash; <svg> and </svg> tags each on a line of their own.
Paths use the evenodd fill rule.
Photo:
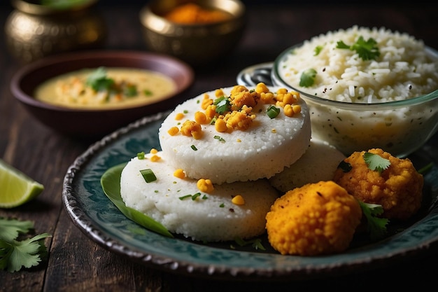
<svg viewBox="0 0 438 292">
<path fill-rule="evenodd" d="M 99 67 L 62 74 L 36 88 L 35 98 L 75 109 L 153 104 L 176 91 L 169 76 L 134 68 Z"/>
</svg>

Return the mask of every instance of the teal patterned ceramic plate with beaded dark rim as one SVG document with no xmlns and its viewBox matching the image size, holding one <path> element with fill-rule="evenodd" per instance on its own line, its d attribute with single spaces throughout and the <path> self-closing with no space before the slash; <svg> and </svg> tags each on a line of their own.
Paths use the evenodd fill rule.
<svg viewBox="0 0 438 292">
<path fill-rule="evenodd" d="M 330 256 L 281 256 L 274 250 L 234 249 L 229 243 L 206 245 L 164 237 L 125 217 L 106 197 L 100 179 L 107 169 L 141 151 L 160 149 L 158 128 L 167 113 L 158 113 L 110 134 L 90 146 L 69 167 L 64 178 L 66 210 L 87 237 L 109 251 L 157 269 L 226 279 L 306 279 L 367 270 L 418 255 L 438 243 L 438 168 L 433 147 L 425 145 L 409 158 L 416 167 L 430 161 L 425 174 L 425 204 L 420 214 L 390 237 L 373 244 L 355 244 Z M 264 242 L 264 246 L 269 246 Z"/>
</svg>

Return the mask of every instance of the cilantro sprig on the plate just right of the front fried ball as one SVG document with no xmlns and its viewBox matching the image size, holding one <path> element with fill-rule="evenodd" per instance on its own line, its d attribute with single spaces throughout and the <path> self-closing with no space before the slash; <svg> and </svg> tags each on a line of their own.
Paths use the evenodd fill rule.
<svg viewBox="0 0 438 292">
<path fill-rule="evenodd" d="M 379 215 L 383 213 L 383 207 L 379 204 L 369 204 L 358 200 L 362 214 L 367 219 L 367 230 L 369 237 L 372 240 L 381 239 L 386 235 L 386 225 L 389 220 L 387 218 L 380 218 Z"/>
</svg>

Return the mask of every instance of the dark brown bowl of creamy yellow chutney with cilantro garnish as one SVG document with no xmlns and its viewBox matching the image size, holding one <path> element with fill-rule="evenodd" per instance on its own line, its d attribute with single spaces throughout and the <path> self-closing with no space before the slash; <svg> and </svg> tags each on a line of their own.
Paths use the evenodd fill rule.
<svg viewBox="0 0 438 292">
<path fill-rule="evenodd" d="M 174 57 L 94 50 L 27 64 L 13 76 L 10 91 L 43 125 L 89 138 L 173 108 L 193 81 L 192 68 Z"/>
</svg>

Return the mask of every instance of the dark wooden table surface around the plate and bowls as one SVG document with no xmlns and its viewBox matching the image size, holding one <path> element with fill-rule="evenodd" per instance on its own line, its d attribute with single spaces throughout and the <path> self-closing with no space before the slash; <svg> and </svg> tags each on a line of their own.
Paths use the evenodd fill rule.
<svg viewBox="0 0 438 292">
<path fill-rule="evenodd" d="M 104 2 L 104 1 L 103 1 Z M 438 48 L 438 6 L 248 6 L 248 27 L 238 48 L 223 62 L 197 68 L 196 80 L 187 98 L 218 87 L 234 85 L 236 74 L 245 67 L 271 62 L 288 46 L 328 30 L 352 25 L 385 26 L 423 39 Z M 139 5 L 98 8 L 108 25 L 105 48 L 146 50 L 138 20 Z M 12 8 L 1 7 L 0 25 Z M 0 271 L 1 291 L 299 291 L 303 288 L 396 287 L 436 283 L 438 254 L 430 249 L 407 256 L 401 263 L 367 272 L 348 271 L 308 281 L 242 282 L 185 277 L 155 270 L 115 255 L 73 225 L 62 204 L 62 181 L 66 169 L 93 141 L 71 139 L 38 123 L 13 99 L 10 78 L 22 66 L 13 60 L 0 32 L 0 158 L 44 184 L 45 190 L 33 202 L 15 209 L 0 209 L 0 216 L 34 221 L 36 232 L 49 232 L 48 261 L 30 270 Z M 437 145 L 437 137 L 434 138 Z M 433 248 L 432 248 L 433 247 Z M 374 287 L 374 288 L 373 288 Z"/>
</svg>

